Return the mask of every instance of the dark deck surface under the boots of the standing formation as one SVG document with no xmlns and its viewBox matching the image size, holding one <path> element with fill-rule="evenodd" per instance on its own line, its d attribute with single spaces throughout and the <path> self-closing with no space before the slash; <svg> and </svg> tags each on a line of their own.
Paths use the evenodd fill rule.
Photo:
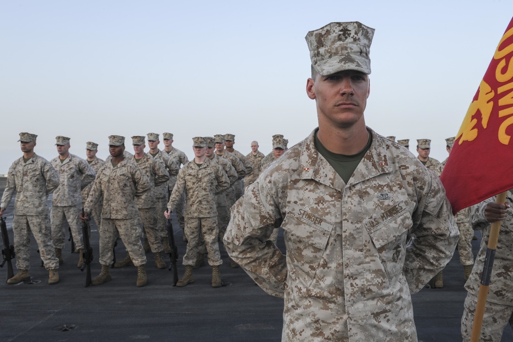
<svg viewBox="0 0 513 342">
<path fill-rule="evenodd" d="M 0 193 L 5 185 L 6 179 L 0 178 Z M 13 206 L 14 200 L 4 213 L 11 243 Z M 175 217 L 173 226 L 181 276 L 186 244 Z M 97 227 L 92 223 L 91 228 L 94 278 L 101 267 L 97 261 Z M 284 249 L 281 236 L 279 247 Z M 476 255 L 479 240 L 472 241 L 472 248 Z M 6 267 L 0 269 L 1 341 L 280 340 L 283 300 L 267 295 L 240 268 L 230 268 L 224 251 L 221 278 L 226 286 L 221 288 L 210 286 L 208 265 L 194 270 L 194 283 L 184 288 L 172 287 L 172 272 L 157 270 L 151 253 L 147 254 L 146 287 L 135 287 L 137 272 L 132 266 L 111 269 L 111 281 L 85 288 L 85 273 L 76 268 L 78 254 L 70 253 L 69 242 L 59 269 L 61 281 L 55 285 L 48 284 L 48 272 L 40 267 L 36 250 L 37 244 L 31 238 L 30 283 L 8 285 Z M 119 260 L 125 256 L 121 240 L 116 256 Z M 168 256 L 165 260 L 169 264 Z M 425 288 L 413 295 L 420 341 L 461 341 L 460 320 L 466 296 L 463 285 L 463 267 L 456 252 L 444 270 L 444 288 Z M 512 340 L 510 330 L 506 329 L 502 341 Z"/>
</svg>

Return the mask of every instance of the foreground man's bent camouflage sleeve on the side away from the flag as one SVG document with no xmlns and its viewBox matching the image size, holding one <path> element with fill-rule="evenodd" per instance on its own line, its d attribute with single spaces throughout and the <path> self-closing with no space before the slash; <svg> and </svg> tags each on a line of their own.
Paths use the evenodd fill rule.
<svg viewBox="0 0 513 342">
<path fill-rule="evenodd" d="M 287 264 L 285 256 L 268 239 L 281 221 L 272 196 L 255 182 L 231 207 L 231 219 L 224 236 L 230 257 L 265 292 L 276 297 L 284 295 Z"/>
</svg>

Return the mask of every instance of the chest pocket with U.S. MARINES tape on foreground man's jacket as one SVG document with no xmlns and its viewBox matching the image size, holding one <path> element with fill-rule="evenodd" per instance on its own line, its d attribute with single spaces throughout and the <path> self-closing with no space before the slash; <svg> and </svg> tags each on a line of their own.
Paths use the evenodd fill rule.
<svg viewBox="0 0 513 342">
<path fill-rule="evenodd" d="M 401 201 L 364 224 L 391 282 L 402 273 L 406 238 L 413 225 L 406 204 Z"/>
</svg>

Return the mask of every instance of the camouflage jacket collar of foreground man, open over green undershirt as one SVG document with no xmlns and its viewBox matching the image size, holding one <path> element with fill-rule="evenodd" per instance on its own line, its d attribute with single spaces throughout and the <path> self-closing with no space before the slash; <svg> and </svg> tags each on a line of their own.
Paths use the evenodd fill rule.
<svg viewBox="0 0 513 342">
<path fill-rule="evenodd" d="M 319 130 L 319 127 L 315 128 L 303 142 L 300 156 L 301 179 L 314 179 L 322 184 L 341 190 L 345 186 L 391 172 L 390 158 L 386 148 L 386 141 L 388 140 L 376 134 L 369 127 L 367 129 L 372 135 L 372 144 L 356 170 L 354 170 L 354 175 L 347 185 L 344 185 L 342 178 L 315 148 L 315 132 Z M 327 169 L 330 169 L 331 172 L 327 173 Z"/>
</svg>

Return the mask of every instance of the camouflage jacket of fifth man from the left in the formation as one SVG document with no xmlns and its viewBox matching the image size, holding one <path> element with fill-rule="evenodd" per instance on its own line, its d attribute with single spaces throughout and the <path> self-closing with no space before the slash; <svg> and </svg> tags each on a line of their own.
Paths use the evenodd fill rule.
<svg viewBox="0 0 513 342">
<path fill-rule="evenodd" d="M 135 197 L 135 204 L 139 209 L 154 208 L 155 202 L 155 187 L 167 183 L 169 180 L 169 173 L 164 168 L 164 164 L 153 159 L 149 153 L 145 153 L 139 162 L 135 161 L 135 156 L 129 158 L 135 165 L 139 166 L 146 177 L 150 180 L 150 188 L 142 196 Z M 164 188 L 165 190 L 166 188 Z"/>
</svg>

